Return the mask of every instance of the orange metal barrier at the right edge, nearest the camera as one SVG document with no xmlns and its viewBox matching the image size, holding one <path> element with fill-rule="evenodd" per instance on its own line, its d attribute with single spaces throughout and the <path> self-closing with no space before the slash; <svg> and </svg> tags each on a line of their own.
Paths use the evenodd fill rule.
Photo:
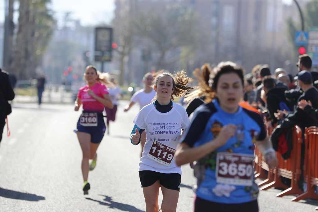
<svg viewBox="0 0 318 212">
<path fill-rule="evenodd" d="M 306 172 L 307 174 L 307 191 L 301 195 L 296 196 L 292 201 L 299 201 L 304 198 L 318 199 L 318 195 L 315 194 L 315 187 L 318 186 L 318 128 L 308 127 L 305 131 L 305 155 L 307 155 Z M 309 146 L 308 146 L 309 144 Z M 307 148 L 308 147 L 308 148 Z M 318 207 L 316 208 L 318 210 Z"/>
</svg>

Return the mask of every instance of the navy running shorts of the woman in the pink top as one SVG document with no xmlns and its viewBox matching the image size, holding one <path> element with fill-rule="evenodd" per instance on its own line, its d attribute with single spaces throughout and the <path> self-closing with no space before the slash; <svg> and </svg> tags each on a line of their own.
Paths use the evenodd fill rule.
<svg viewBox="0 0 318 212">
<path fill-rule="evenodd" d="M 79 120 L 77 121 L 77 131 L 90 134 L 92 143 L 94 144 L 100 143 L 106 131 L 106 125 L 105 125 L 103 114 L 97 113 L 96 127 L 84 127 L 79 122 L 80 122 L 80 117 L 79 117 Z"/>
</svg>

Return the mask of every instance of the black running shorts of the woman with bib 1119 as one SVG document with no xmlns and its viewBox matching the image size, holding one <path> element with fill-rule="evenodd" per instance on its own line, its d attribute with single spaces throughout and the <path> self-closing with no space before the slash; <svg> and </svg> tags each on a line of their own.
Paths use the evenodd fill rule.
<svg viewBox="0 0 318 212">
<path fill-rule="evenodd" d="M 139 171 L 141 187 L 148 187 L 159 180 L 164 188 L 180 191 L 181 174 L 165 174 L 154 171 Z"/>
</svg>

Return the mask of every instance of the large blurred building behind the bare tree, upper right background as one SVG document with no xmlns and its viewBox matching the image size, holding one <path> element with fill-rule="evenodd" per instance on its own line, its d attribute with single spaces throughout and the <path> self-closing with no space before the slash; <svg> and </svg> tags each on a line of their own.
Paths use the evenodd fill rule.
<svg viewBox="0 0 318 212">
<path fill-rule="evenodd" d="M 301 5 L 308 1 L 299 0 Z M 130 14 L 133 18 L 137 9 L 153 7 L 161 11 L 171 3 L 191 7 L 204 26 L 202 30 L 209 35 L 205 51 L 197 51 L 194 61 L 186 67 L 189 71 L 205 62 L 217 64 L 224 60 L 242 65 L 246 72 L 250 72 L 256 64 L 265 63 L 272 69 L 285 67 L 292 69 L 291 72 L 296 71 L 295 67 L 285 64 L 286 60 L 295 56 L 287 39 L 285 23 L 290 16 L 298 22 L 299 12 L 296 5 L 284 5 L 281 0 L 116 0 L 114 20 L 121 14 Z M 145 46 L 137 46 L 129 56 L 126 65 L 134 76 L 156 69 L 151 66 L 156 59 L 156 49 L 151 44 L 148 46 L 151 51 L 148 65 L 142 59 Z M 175 63 L 167 69 L 182 68 L 179 65 Z"/>
</svg>

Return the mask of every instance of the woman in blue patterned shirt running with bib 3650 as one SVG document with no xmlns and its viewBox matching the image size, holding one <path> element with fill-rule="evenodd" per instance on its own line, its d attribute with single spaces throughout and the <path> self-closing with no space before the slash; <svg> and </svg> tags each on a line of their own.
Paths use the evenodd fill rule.
<svg viewBox="0 0 318 212">
<path fill-rule="evenodd" d="M 239 106 L 244 94 L 243 68 L 221 62 L 210 75 L 211 103 L 198 107 L 176 151 L 176 164 L 197 161 L 195 211 L 258 211 L 254 182 L 254 144 L 269 168 L 275 151 L 259 114 Z"/>
</svg>

